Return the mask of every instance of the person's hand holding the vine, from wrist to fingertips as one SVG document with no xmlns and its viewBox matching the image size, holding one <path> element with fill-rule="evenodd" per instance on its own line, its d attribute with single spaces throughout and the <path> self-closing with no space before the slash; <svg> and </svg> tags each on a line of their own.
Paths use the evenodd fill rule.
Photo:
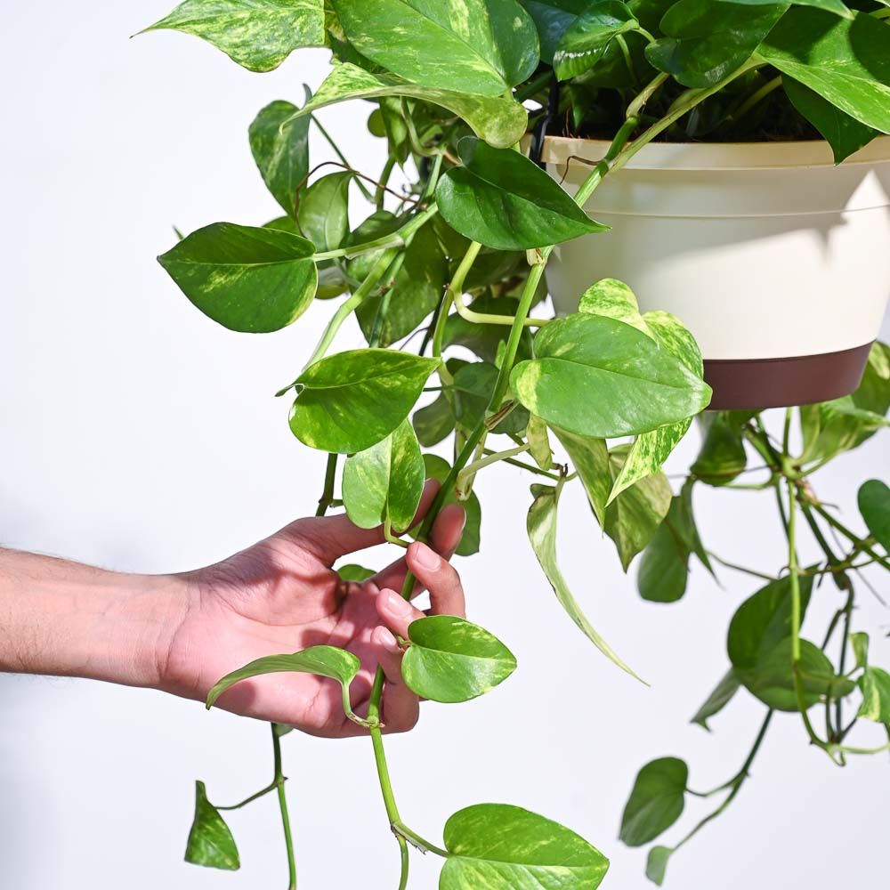
<svg viewBox="0 0 890 890">
<path fill-rule="evenodd" d="M 423 517 L 438 483 L 428 482 L 417 514 Z M 384 668 L 384 732 L 417 723 L 419 702 L 401 679 L 401 649 L 424 613 L 401 598 L 408 569 L 414 595 L 430 592 L 432 612 L 464 616 L 464 592 L 449 565 L 464 528 L 460 506 L 442 509 L 431 546 L 413 543 L 400 560 L 360 584 L 331 567 L 340 557 L 384 541 L 382 529 L 353 525 L 344 514 L 292 522 L 223 562 L 179 576 L 188 607 L 158 659 L 160 688 L 204 700 L 217 680 L 266 655 L 328 644 L 352 651 L 361 662 L 350 686 L 352 708 L 364 714 L 377 664 Z M 238 714 L 295 726 L 303 732 L 344 737 L 363 732 L 344 716 L 335 681 L 312 674 L 270 674 L 233 686 L 217 702 Z"/>
</svg>

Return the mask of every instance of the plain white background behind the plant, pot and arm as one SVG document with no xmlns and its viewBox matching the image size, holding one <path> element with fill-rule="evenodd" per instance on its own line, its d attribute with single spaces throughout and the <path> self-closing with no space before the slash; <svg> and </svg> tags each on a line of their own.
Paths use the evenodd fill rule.
<svg viewBox="0 0 890 890">
<path fill-rule="evenodd" d="M 0 541 L 118 570 L 222 558 L 311 513 L 320 488 L 320 455 L 293 439 L 287 405 L 272 393 L 295 376 L 330 304 L 279 334 L 231 334 L 190 306 L 154 256 L 172 246 L 174 224 L 191 231 L 277 215 L 247 125 L 268 101 L 300 101 L 303 81 L 320 82 L 326 53 L 300 53 L 259 76 L 188 36 L 127 39 L 167 11 L 164 0 L 16 4 L 0 56 Z M 366 117 L 350 105 L 324 120 L 373 172 L 382 158 Z M 314 160 L 328 157 L 320 146 Z M 357 336 L 348 331 L 342 343 Z M 691 438 L 676 465 L 690 458 Z M 855 490 L 886 473 L 886 458 L 887 438 L 878 438 L 816 477 L 854 527 Z M 744 693 L 713 735 L 688 723 L 724 672 L 728 619 L 755 586 L 723 572 L 720 588 L 696 568 L 682 603 L 643 603 L 580 490 L 571 492 L 561 513 L 565 573 L 646 688 L 599 656 L 555 603 L 523 542 L 531 480 L 514 472 L 481 476 L 483 553 L 460 569 L 470 617 L 510 644 L 520 669 L 484 700 L 425 706 L 417 730 L 389 742 L 401 811 L 438 838 L 461 806 L 525 805 L 611 856 L 604 886 L 643 887 L 643 851 L 617 840 L 637 769 L 684 756 L 693 787 L 713 787 L 738 769 L 756 733 L 763 708 Z M 781 566 L 769 494 L 702 490 L 696 506 L 716 552 Z M 816 595 L 813 637 L 838 597 L 829 585 Z M 873 658 L 887 665 L 890 617 L 867 591 L 860 602 L 855 627 L 872 631 Z M 196 778 L 220 803 L 268 781 L 263 724 L 158 692 L 23 676 L 0 677 L 0 715 L 0 886 L 285 886 L 271 797 L 231 817 L 239 874 L 182 863 Z M 754 780 L 676 855 L 667 886 L 886 886 L 886 756 L 840 770 L 807 747 L 799 720 L 773 725 Z M 881 740 L 877 727 L 858 738 Z M 301 887 L 395 886 L 368 741 L 292 734 L 285 756 Z M 693 800 L 686 827 L 708 805 Z M 672 829 L 667 842 L 679 836 Z M 433 888 L 437 862 L 416 861 L 412 886 Z"/>
</svg>

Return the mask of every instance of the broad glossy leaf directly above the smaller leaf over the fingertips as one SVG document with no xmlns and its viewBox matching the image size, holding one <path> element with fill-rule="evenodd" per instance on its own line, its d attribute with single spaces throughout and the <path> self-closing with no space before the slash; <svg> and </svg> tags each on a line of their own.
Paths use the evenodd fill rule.
<svg viewBox="0 0 890 890">
<path fill-rule="evenodd" d="M 341 454 L 369 449 L 409 416 L 439 364 L 388 349 L 328 356 L 296 378 L 290 428 L 310 448 Z"/>
</svg>

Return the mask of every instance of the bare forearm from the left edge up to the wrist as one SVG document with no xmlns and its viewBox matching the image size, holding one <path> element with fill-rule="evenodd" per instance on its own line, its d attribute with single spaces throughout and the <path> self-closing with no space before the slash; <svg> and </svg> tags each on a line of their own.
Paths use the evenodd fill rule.
<svg viewBox="0 0 890 890">
<path fill-rule="evenodd" d="M 0 671 L 158 686 L 187 608 L 176 576 L 0 549 Z"/>
</svg>

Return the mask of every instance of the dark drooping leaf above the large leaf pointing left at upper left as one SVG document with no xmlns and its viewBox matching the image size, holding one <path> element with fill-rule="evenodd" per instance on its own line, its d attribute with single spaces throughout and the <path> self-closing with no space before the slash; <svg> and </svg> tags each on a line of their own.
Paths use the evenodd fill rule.
<svg viewBox="0 0 890 890">
<path fill-rule="evenodd" d="M 271 102 L 255 117 L 248 131 L 250 150 L 263 182 L 291 217 L 296 213 L 297 190 L 309 174 L 310 118 L 295 118 L 296 110 L 290 102 Z M 303 229 L 303 234 L 317 249 L 328 249 L 321 247 L 309 231 Z"/>
</svg>

